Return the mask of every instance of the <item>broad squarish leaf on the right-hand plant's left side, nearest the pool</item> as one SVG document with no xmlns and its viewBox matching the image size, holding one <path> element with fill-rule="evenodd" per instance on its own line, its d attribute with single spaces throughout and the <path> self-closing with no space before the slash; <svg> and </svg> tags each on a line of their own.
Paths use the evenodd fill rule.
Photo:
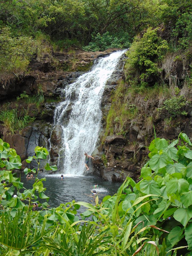
<svg viewBox="0 0 192 256">
<path fill-rule="evenodd" d="M 159 185 L 154 180 L 143 180 L 140 183 L 140 190 L 145 194 L 161 195 Z"/>
</svg>

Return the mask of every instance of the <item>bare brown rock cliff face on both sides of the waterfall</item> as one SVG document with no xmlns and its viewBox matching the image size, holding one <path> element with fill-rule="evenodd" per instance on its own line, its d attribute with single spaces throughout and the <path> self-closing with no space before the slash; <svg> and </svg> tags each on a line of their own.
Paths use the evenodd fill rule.
<svg viewBox="0 0 192 256">
<path fill-rule="evenodd" d="M 65 86 L 72 83 L 85 71 L 82 67 L 90 68 L 90 65 L 97 58 L 103 57 L 114 51 L 114 49 L 107 50 L 103 53 L 85 53 L 77 51 L 75 58 L 78 59 L 76 63 L 76 71 L 65 71 L 64 67 L 71 64 L 71 59 L 74 54 L 56 54 L 56 58 L 63 70 L 56 70 L 49 62 L 38 62 L 33 60 L 31 62 L 31 70 L 29 74 L 24 75 L 17 80 L 12 81 L 9 87 L 0 84 L 0 100 L 4 104 L 7 100 L 11 102 L 10 108 L 17 107 L 20 116 L 24 115 L 23 108 L 28 108 L 28 113 L 31 117 L 35 117 L 35 121 L 22 131 L 16 131 L 15 134 L 5 135 L 5 141 L 11 147 L 17 150 L 21 156 L 23 166 L 27 166 L 25 159 L 34 154 L 36 146 L 43 146 L 50 148 L 50 161 L 57 164 L 58 153 L 62 146 L 63 130 L 60 125 L 54 124 L 54 111 L 58 102 L 65 97 Z M 159 106 L 159 101 L 153 99 L 147 101 L 146 108 L 142 113 L 139 113 L 137 123 L 130 121 L 125 136 L 112 135 L 106 137 L 102 143 L 102 137 L 106 126 L 106 116 L 111 106 L 111 93 L 116 89 L 118 83 L 124 79 L 123 73 L 124 57 L 119 60 L 118 68 L 115 70 L 111 78 L 107 81 L 102 102 L 101 109 L 103 112 L 102 124 L 103 129 L 98 138 L 97 148 L 93 151 L 91 173 L 93 175 L 101 176 L 107 181 L 123 181 L 126 176 L 130 176 L 137 181 L 141 167 L 148 157 L 147 146 L 153 139 L 153 129 L 146 123 L 146 111 L 150 111 L 155 116 L 155 111 Z M 85 70 L 85 69 L 84 69 Z M 25 102 L 17 102 L 16 96 L 19 96 L 23 91 L 27 94 L 36 94 L 38 86 L 41 86 L 46 101 L 40 106 L 35 104 L 27 105 Z M 50 100 L 47 100 L 51 98 Z M 66 124 L 69 119 L 71 108 L 67 111 Z M 158 137 L 166 139 L 174 139 L 183 131 L 189 137 L 192 137 L 192 109 L 186 117 L 181 117 L 172 121 L 169 127 L 165 127 L 163 116 L 159 116 L 155 121 L 155 129 Z M 0 136 L 3 134 L 3 126 L 0 123 Z M 35 167 L 35 162 L 31 162 L 29 167 Z"/>
</svg>

